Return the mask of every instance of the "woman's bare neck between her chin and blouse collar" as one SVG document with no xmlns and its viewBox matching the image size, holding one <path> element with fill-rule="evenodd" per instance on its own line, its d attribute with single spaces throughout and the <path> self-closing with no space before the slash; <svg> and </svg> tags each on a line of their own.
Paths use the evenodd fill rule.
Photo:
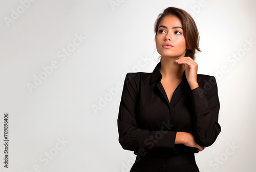
<svg viewBox="0 0 256 172">
<path fill-rule="evenodd" d="M 176 58 L 161 57 L 160 73 L 168 80 L 181 79 L 185 67 L 183 64 L 175 62 Z"/>
</svg>

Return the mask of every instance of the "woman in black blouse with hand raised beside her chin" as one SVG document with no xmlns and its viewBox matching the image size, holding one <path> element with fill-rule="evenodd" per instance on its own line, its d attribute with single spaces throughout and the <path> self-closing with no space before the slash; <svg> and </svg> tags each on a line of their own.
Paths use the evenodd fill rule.
<svg viewBox="0 0 256 172">
<path fill-rule="evenodd" d="M 199 34 L 187 12 L 166 8 L 155 33 L 161 60 L 154 71 L 125 77 L 119 143 L 137 155 L 131 171 L 199 171 L 195 153 L 221 132 L 216 79 L 197 74 Z"/>
</svg>

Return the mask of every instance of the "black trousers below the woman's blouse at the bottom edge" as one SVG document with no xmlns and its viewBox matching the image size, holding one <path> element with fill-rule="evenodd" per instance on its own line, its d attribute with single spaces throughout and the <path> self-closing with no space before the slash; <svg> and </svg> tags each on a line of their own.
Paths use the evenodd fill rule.
<svg viewBox="0 0 256 172">
<path fill-rule="evenodd" d="M 138 158 L 138 157 L 137 157 Z M 137 160 L 136 158 L 136 160 Z M 141 156 L 130 172 L 199 172 L 195 154 L 182 154 L 169 158 Z"/>
</svg>

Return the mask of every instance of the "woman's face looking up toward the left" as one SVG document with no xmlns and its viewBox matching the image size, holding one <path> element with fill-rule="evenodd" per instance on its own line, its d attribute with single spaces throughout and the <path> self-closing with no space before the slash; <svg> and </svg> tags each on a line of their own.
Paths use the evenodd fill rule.
<svg viewBox="0 0 256 172">
<path fill-rule="evenodd" d="M 166 42 L 172 46 L 163 46 Z M 181 21 L 174 15 L 163 17 L 158 26 L 156 36 L 157 52 L 163 56 L 184 57 L 186 41 L 183 35 Z"/>
</svg>

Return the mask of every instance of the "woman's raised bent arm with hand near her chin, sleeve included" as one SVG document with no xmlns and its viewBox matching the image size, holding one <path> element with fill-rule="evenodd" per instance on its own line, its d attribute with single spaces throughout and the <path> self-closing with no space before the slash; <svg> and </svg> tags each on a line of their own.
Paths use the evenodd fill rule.
<svg viewBox="0 0 256 172">
<path fill-rule="evenodd" d="M 186 78 L 190 86 L 195 141 L 200 146 L 210 146 L 221 132 L 221 126 L 218 123 L 220 101 L 216 79 L 214 76 L 204 75 L 199 85 L 197 82 L 198 64 L 190 57 L 180 57 L 176 62 L 185 66 Z"/>
</svg>

